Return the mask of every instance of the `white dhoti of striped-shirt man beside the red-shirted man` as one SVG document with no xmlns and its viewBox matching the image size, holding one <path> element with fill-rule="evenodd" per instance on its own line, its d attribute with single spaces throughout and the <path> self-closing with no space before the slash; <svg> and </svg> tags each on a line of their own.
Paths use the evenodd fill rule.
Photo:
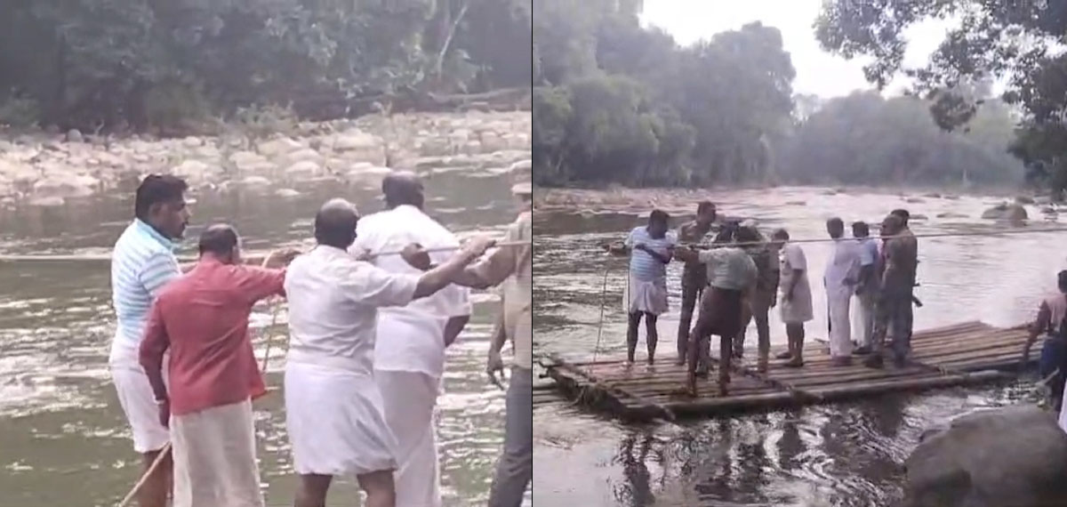
<svg viewBox="0 0 1067 507">
<path fill-rule="evenodd" d="M 170 357 L 163 358 L 163 381 L 168 380 Z M 122 406 L 133 433 L 133 450 L 145 454 L 162 449 L 171 441 L 170 431 L 159 423 L 159 406 L 148 383 L 148 376 L 138 360 L 136 351 L 115 347 L 109 359 L 111 380 L 115 384 L 118 405 Z"/>
</svg>

